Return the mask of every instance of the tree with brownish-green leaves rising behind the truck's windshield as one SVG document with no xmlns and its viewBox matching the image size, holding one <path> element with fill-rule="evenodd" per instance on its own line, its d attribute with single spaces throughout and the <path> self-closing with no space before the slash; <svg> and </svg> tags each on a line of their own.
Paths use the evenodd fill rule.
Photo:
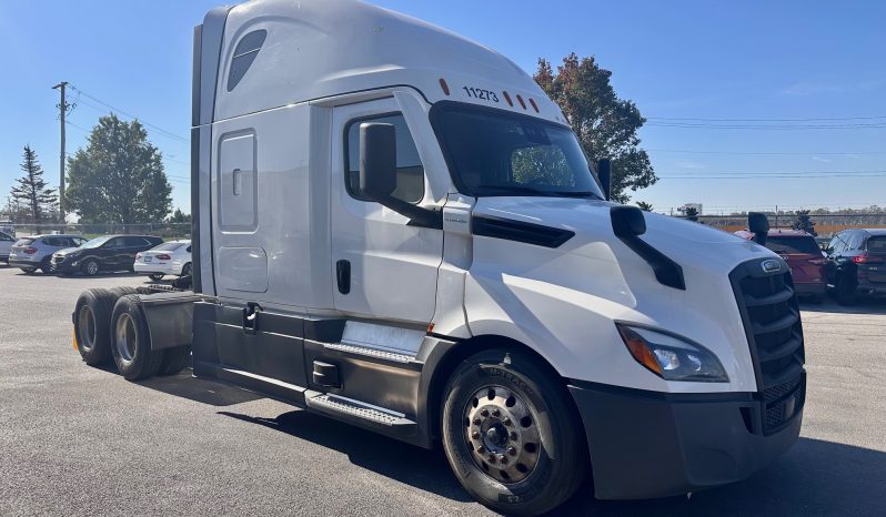
<svg viewBox="0 0 886 517">
<path fill-rule="evenodd" d="M 534 79 L 563 110 L 585 153 L 593 160 L 612 160 L 612 199 L 626 203 L 626 190 L 650 186 L 658 179 L 650 155 L 640 148 L 637 130 L 646 119 L 633 102 L 615 94 L 611 75 L 594 58 L 580 59 L 573 52 L 556 73 L 540 59 Z"/>
</svg>

